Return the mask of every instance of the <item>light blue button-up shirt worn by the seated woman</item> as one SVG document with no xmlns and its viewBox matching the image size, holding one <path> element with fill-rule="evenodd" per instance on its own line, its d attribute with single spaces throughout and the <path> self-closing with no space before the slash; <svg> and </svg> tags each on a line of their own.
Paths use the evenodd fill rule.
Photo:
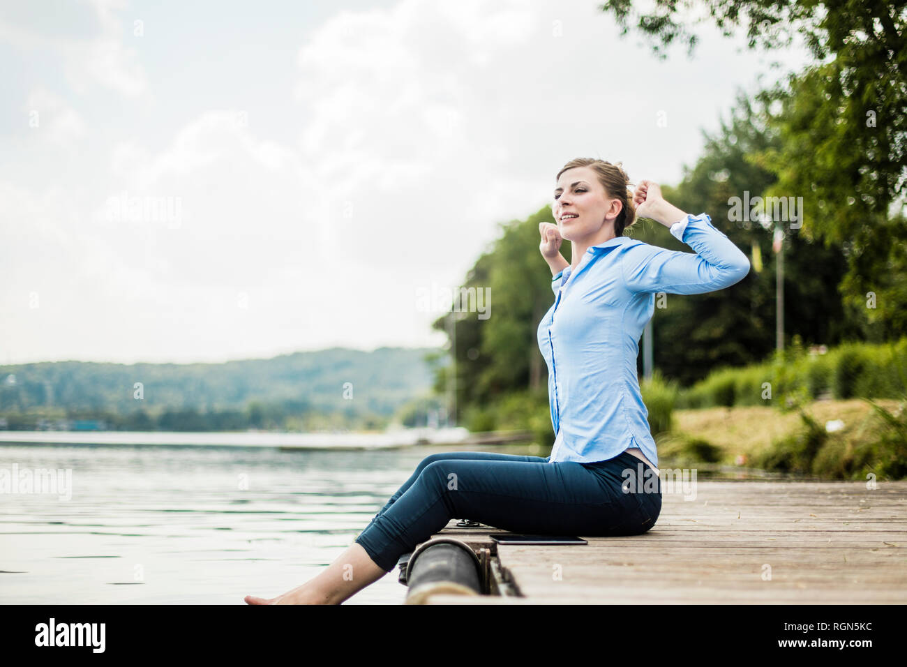
<svg viewBox="0 0 907 667">
<path fill-rule="evenodd" d="M 575 271 L 567 267 L 551 281 L 556 299 L 538 330 L 557 436 L 550 463 L 606 461 L 639 447 L 658 467 L 636 366 L 655 294 L 724 289 L 749 272 L 746 255 L 705 213 L 670 232 L 696 254 L 619 236 L 590 247 Z"/>
</svg>

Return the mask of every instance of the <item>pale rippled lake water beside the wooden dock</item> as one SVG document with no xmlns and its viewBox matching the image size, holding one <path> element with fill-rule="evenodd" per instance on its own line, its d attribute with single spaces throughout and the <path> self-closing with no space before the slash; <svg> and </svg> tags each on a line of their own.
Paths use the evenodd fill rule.
<svg viewBox="0 0 907 667">
<path fill-rule="evenodd" d="M 0 494 L 0 603 L 273 597 L 343 552 L 424 456 L 456 448 L 0 445 L 11 472 L 72 471 L 68 499 Z M 403 603 L 396 577 L 346 604 Z"/>
</svg>

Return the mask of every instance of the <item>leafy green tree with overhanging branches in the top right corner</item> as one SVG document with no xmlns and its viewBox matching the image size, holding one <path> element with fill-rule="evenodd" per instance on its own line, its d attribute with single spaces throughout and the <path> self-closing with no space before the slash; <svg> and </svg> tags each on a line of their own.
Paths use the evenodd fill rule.
<svg viewBox="0 0 907 667">
<path fill-rule="evenodd" d="M 651 11 L 639 11 L 630 0 L 607 0 L 600 8 L 623 34 L 633 28 L 649 36 L 662 58 L 675 42 L 693 53 L 697 35 L 684 21 L 698 8 L 727 36 L 746 27 L 751 48 L 784 48 L 795 34 L 804 38 L 814 64 L 763 93 L 777 103 L 770 124 L 780 140 L 760 157 L 777 177 L 766 193 L 803 197 L 799 235 L 842 247 L 847 268 L 838 287 L 850 316 L 863 319 L 863 336 L 902 331 L 907 3 L 658 0 Z"/>
</svg>

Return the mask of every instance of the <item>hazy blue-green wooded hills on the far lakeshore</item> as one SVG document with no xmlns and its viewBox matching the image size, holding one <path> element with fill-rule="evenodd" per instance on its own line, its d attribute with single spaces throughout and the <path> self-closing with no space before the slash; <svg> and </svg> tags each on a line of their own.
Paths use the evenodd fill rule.
<svg viewBox="0 0 907 667">
<path fill-rule="evenodd" d="M 434 348 L 327 348 L 223 363 L 0 366 L 0 429 L 381 431 L 407 402 L 443 421 L 443 399 L 430 396 L 435 363 L 444 359 Z"/>
</svg>

